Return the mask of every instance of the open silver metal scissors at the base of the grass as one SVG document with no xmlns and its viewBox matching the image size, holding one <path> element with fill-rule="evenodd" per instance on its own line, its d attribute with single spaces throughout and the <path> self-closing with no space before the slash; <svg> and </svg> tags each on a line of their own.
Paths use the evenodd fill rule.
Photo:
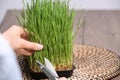
<svg viewBox="0 0 120 80">
<path fill-rule="evenodd" d="M 36 60 L 40 69 L 45 73 L 45 75 L 50 80 L 58 80 L 59 76 L 58 76 L 57 72 L 55 71 L 55 68 L 53 67 L 52 63 L 47 58 L 44 58 L 44 60 L 45 60 L 46 66 L 44 66 L 40 61 Z"/>
</svg>

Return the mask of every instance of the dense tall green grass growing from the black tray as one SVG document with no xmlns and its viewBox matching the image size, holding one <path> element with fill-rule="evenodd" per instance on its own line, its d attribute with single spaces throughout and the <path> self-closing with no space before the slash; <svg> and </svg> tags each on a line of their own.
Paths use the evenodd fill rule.
<svg viewBox="0 0 120 80">
<path fill-rule="evenodd" d="M 25 3 L 19 23 L 27 29 L 32 42 L 44 45 L 43 50 L 27 57 L 30 70 L 40 73 L 36 60 L 44 64 L 46 57 L 56 71 L 66 71 L 71 75 L 69 71 L 73 69 L 73 22 L 74 10 L 69 9 L 69 0 L 31 0 L 30 4 Z M 58 75 L 69 77 L 66 74 Z"/>
</svg>

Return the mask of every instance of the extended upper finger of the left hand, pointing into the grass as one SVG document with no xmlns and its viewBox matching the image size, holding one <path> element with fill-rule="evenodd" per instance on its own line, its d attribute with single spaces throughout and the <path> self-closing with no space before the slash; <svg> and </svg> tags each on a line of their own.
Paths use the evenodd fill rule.
<svg viewBox="0 0 120 80">
<path fill-rule="evenodd" d="M 43 45 L 41 44 L 30 42 L 24 39 L 21 39 L 20 43 L 21 43 L 21 48 L 25 48 L 28 50 L 29 49 L 30 50 L 41 50 L 43 48 Z"/>
</svg>

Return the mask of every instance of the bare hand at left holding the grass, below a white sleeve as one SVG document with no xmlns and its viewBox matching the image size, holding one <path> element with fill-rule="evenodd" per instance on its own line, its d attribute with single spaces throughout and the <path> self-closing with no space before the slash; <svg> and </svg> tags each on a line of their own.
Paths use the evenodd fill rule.
<svg viewBox="0 0 120 80">
<path fill-rule="evenodd" d="M 31 55 L 35 50 L 41 50 L 43 45 L 28 41 L 27 32 L 19 26 L 13 25 L 3 33 L 17 54 Z"/>
</svg>

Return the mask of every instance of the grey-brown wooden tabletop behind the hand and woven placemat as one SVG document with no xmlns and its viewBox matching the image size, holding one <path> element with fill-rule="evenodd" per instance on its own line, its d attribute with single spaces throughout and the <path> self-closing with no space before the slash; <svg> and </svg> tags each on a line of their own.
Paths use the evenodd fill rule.
<svg viewBox="0 0 120 80">
<path fill-rule="evenodd" d="M 16 24 L 19 12 L 9 10 L 1 24 L 2 32 Z M 120 55 L 120 11 L 76 11 L 75 24 L 82 16 L 85 26 L 81 27 L 75 44 L 87 44 L 109 49 Z M 120 80 L 120 75 L 112 80 Z"/>
</svg>

